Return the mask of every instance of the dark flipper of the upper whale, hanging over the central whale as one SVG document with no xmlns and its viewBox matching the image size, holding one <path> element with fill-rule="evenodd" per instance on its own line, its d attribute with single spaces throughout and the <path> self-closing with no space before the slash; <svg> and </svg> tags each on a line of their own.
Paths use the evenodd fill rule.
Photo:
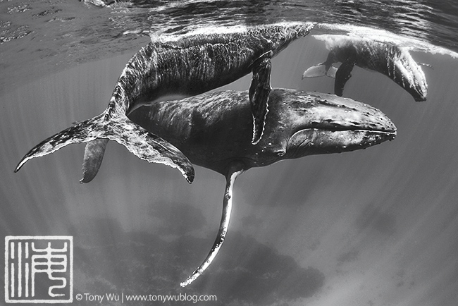
<svg viewBox="0 0 458 306">
<path fill-rule="evenodd" d="M 264 132 L 266 123 L 268 94 L 271 93 L 271 63 L 272 51 L 261 56 L 253 63 L 252 84 L 249 87 L 249 102 L 253 113 L 253 138 L 255 145 L 259 142 Z"/>
</svg>

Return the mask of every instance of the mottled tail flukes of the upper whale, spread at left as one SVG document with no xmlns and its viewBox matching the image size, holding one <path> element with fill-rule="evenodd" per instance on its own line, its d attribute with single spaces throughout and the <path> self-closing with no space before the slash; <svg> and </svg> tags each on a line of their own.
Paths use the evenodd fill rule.
<svg viewBox="0 0 458 306">
<path fill-rule="evenodd" d="M 194 168 L 180 150 L 130 121 L 127 116 L 108 116 L 106 112 L 43 140 L 25 154 L 14 172 L 32 158 L 51 154 L 66 145 L 88 142 L 83 162 L 84 176 L 80 180 L 87 183 L 97 174 L 108 140 L 118 142 L 140 159 L 177 168 L 189 183 L 194 180 Z"/>
</svg>

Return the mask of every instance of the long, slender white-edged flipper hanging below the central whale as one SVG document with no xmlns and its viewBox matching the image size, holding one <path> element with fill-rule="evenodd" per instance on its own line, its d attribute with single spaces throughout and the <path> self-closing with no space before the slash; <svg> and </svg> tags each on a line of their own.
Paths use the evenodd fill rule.
<svg viewBox="0 0 458 306">
<path fill-rule="evenodd" d="M 242 172 L 242 163 L 234 162 L 230 165 L 228 174 L 226 175 L 225 193 L 223 198 L 223 215 L 221 216 L 221 223 L 219 226 L 218 235 L 216 236 L 216 240 L 213 243 L 209 255 L 206 256 L 204 262 L 200 264 L 200 266 L 192 273 L 190 277 L 187 278 L 186 281 L 180 283 L 180 286 L 185 287 L 189 285 L 195 281 L 202 273 L 204 273 L 205 269 L 208 268 L 211 262 L 213 262 L 213 259 L 215 259 L 219 249 L 221 248 L 221 245 L 223 245 L 225 235 L 228 233 L 230 212 L 232 211 L 235 178 L 237 178 L 237 176 Z"/>
</svg>

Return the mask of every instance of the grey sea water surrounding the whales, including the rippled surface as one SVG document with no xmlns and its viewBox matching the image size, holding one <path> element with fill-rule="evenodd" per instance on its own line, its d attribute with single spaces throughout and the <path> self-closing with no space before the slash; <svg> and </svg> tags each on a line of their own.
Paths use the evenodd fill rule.
<svg viewBox="0 0 458 306">
<path fill-rule="evenodd" d="M 412 53 L 431 65 L 423 67 L 429 87 L 421 103 L 355 68 L 345 96 L 385 112 L 396 139 L 244 173 L 225 245 L 189 288 L 179 283 L 218 228 L 221 175 L 197 167 L 188 185 L 178 171 L 114 143 L 86 185 L 78 183 L 84 145 L 13 173 L 39 141 L 106 108 L 125 63 L 149 41 L 134 32 L 282 20 L 378 27 L 458 51 L 454 1 L 1 1 L 0 236 L 73 235 L 75 293 L 218 297 L 198 305 L 456 305 L 452 56 Z M 314 37 L 294 42 L 273 60 L 273 87 L 331 92 L 333 80 L 301 80 L 326 55 Z M 250 78 L 225 88 L 247 90 Z"/>
</svg>

